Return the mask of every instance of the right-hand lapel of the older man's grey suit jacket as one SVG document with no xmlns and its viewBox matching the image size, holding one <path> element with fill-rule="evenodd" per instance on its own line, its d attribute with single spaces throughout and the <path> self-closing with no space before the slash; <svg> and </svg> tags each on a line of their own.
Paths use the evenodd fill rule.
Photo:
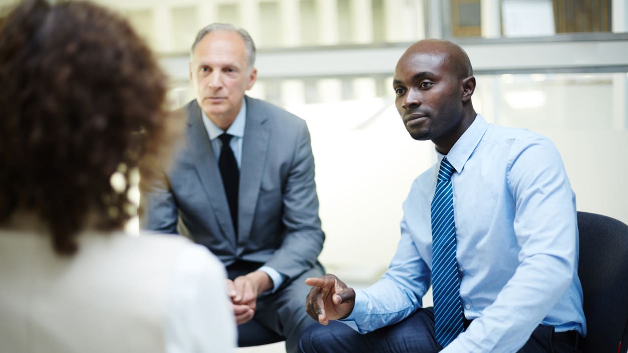
<svg viewBox="0 0 628 353">
<path fill-rule="evenodd" d="M 265 109 L 256 99 L 246 97 L 246 126 L 242 143 L 242 167 L 240 171 L 240 194 L 238 197 L 239 239 L 243 244 L 249 240 L 253 216 L 257 205 L 259 188 L 268 155 L 270 130 Z"/>
</svg>

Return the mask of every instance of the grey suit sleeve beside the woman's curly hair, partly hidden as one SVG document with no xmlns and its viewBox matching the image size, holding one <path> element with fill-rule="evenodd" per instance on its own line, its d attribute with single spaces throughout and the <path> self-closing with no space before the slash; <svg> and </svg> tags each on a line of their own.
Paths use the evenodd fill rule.
<svg viewBox="0 0 628 353">
<path fill-rule="evenodd" d="M 147 231 L 176 234 L 178 207 L 175 195 L 171 192 L 168 176 L 159 170 L 158 175 L 148 185 L 148 191 L 141 195 L 144 208 L 141 227 Z"/>
</svg>

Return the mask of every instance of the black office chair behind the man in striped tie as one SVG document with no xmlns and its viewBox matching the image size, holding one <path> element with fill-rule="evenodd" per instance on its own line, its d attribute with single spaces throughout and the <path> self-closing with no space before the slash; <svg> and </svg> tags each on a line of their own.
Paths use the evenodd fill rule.
<svg viewBox="0 0 628 353">
<path fill-rule="evenodd" d="M 628 225 L 605 215 L 578 212 L 587 337 L 582 353 L 628 351 Z"/>
</svg>

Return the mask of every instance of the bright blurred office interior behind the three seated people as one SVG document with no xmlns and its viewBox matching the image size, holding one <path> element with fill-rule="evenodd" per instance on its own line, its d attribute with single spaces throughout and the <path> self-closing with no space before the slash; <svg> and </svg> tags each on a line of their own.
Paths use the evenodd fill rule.
<svg viewBox="0 0 628 353">
<path fill-rule="evenodd" d="M 628 223 L 626 0 L 97 3 L 127 16 L 158 53 L 173 108 L 193 99 L 189 48 L 200 28 L 219 21 L 251 33 L 258 80 L 249 95 L 308 122 L 327 234 L 320 259 L 349 285 L 366 286 L 385 271 L 411 182 L 435 162 L 433 144 L 411 139 L 393 106 L 394 65 L 422 38 L 467 51 L 477 78 L 474 106 L 487 121 L 554 141 L 578 210 Z"/>
</svg>

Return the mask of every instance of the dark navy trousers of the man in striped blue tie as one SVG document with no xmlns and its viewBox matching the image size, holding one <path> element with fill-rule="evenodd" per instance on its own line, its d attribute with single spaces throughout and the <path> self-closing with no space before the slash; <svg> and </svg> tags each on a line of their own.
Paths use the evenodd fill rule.
<svg viewBox="0 0 628 353">
<path fill-rule="evenodd" d="M 342 322 L 314 323 L 301 335 L 303 353 L 436 353 L 433 308 L 423 308 L 394 325 L 361 335 Z M 554 337 L 554 328 L 539 325 L 517 353 L 580 353 L 575 343 Z M 462 352 L 461 352 L 462 353 Z"/>
</svg>

